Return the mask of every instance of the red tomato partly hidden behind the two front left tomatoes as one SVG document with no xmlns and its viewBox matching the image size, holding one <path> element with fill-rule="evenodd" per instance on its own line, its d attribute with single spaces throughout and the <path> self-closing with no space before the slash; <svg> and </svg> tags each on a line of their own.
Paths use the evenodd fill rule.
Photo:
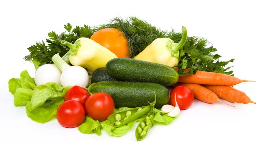
<svg viewBox="0 0 256 146">
<path fill-rule="evenodd" d="M 65 94 L 64 101 L 74 100 L 85 105 L 86 99 L 90 96 L 90 93 L 80 86 L 71 87 Z"/>
</svg>

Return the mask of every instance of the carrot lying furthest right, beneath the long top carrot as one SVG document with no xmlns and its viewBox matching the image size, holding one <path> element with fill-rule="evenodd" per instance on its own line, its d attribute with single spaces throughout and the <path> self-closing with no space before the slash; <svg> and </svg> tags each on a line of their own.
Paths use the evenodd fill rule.
<svg viewBox="0 0 256 146">
<path fill-rule="evenodd" d="M 232 103 L 254 103 L 243 91 L 239 91 L 231 86 L 205 85 L 205 88 L 214 92 L 218 97 Z"/>
</svg>

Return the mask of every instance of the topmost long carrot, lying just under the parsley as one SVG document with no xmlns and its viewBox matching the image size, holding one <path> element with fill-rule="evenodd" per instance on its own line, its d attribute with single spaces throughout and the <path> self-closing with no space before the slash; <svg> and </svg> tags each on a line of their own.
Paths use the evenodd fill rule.
<svg viewBox="0 0 256 146">
<path fill-rule="evenodd" d="M 233 86 L 242 82 L 249 82 L 247 80 L 240 80 L 239 78 L 226 75 L 223 73 L 213 73 L 207 71 L 197 70 L 194 75 L 180 76 L 178 82 L 181 83 L 195 83 L 205 85 L 224 85 Z M 251 81 L 255 82 L 255 81 Z"/>
</svg>

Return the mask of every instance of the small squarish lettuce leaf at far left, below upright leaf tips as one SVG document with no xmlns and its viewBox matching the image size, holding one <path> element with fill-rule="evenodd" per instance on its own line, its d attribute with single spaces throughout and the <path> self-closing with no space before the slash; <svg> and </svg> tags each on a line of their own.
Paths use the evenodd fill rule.
<svg viewBox="0 0 256 146">
<path fill-rule="evenodd" d="M 32 89 L 18 88 L 14 93 L 14 106 L 26 106 L 26 104 L 31 101 L 33 92 Z"/>
</svg>

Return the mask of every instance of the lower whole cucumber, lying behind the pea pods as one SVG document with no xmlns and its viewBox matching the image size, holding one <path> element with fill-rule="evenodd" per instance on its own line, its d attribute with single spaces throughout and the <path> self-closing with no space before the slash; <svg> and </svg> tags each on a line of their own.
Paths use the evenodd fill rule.
<svg viewBox="0 0 256 146">
<path fill-rule="evenodd" d="M 108 93 L 113 98 L 116 108 L 147 106 L 147 101 L 155 100 L 155 94 L 156 108 L 161 108 L 169 101 L 168 89 L 157 83 L 101 81 L 91 84 L 88 91 Z"/>
</svg>

